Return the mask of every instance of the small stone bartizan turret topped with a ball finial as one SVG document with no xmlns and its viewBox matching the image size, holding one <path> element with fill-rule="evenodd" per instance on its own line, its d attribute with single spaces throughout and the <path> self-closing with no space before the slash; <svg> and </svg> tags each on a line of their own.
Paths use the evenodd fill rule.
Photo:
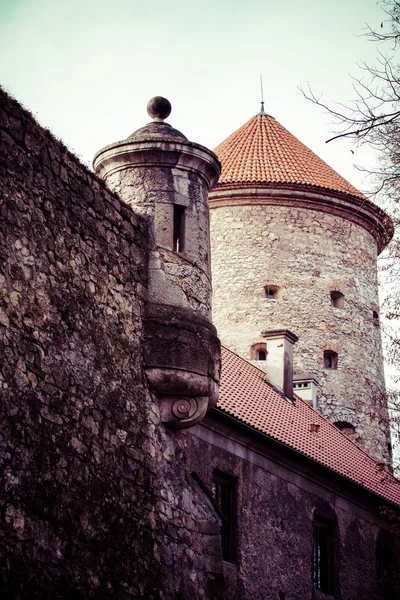
<svg viewBox="0 0 400 600">
<path fill-rule="evenodd" d="M 175 428 L 200 421 L 218 399 L 220 343 L 211 324 L 208 192 L 220 164 L 164 122 L 171 105 L 155 97 L 153 121 L 100 150 L 94 169 L 151 231 L 144 366 Z"/>
</svg>

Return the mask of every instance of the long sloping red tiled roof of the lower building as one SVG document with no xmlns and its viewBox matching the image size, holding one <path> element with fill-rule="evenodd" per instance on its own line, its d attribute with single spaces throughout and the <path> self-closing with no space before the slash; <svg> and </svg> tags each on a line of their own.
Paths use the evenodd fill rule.
<svg viewBox="0 0 400 600">
<path fill-rule="evenodd" d="M 263 371 L 222 348 L 219 409 L 400 505 L 400 481 L 307 402 L 296 396 L 294 404 L 266 382 Z M 318 433 L 310 431 L 311 424 L 319 425 Z"/>
</svg>

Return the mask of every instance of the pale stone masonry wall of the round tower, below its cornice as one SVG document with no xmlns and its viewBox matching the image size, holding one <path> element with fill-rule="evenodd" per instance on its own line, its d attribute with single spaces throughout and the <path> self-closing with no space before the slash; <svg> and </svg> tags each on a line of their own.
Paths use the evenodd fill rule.
<svg viewBox="0 0 400 600">
<path fill-rule="evenodd" d="M 222 343 L 249 358 L 262 331 L 293 331 L 294 373 L 319 377 L 318 409 L 354 425 L 369 453 L 390 460 L 372 235 L 314 210 L 218 207 L 211 211 L 211 247 Z M 266 298 L 268 284 L 280 288 L 278 299 Z M 344 294 L 343 309 L 331 306 L 335 290 Z M 324 350 L 337 352 L 337 369 L 324 368 Z"/>
</svg>

